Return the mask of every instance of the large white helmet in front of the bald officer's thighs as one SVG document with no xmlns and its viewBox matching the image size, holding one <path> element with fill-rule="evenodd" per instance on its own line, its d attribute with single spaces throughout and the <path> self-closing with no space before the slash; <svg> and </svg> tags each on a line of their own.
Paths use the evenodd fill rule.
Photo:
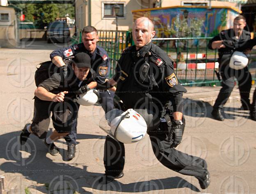
<svg viewBox="0 0 256 194">
<path fill-rule="evenodd" d="M 147 125 L 135 110 L 128 109 L 110 122 L 112 136 L 122 143 L 134 143 L 144 138 Z"/>
</svg>

